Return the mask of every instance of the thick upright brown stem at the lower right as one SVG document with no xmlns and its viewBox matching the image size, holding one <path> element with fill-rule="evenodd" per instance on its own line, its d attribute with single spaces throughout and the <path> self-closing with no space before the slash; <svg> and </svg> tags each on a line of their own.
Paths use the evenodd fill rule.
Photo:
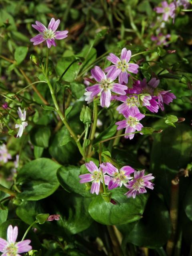
<svg viewBox="0 0 192 256">
<path fill-rule="evenodd" d="M 173 254 L 176 242 L 176 231 L 178 225 L 178 204 L 179 204 L 179 176 L 171 181 L 171 202 L 170 202 L 170 219 L 172 223 L 172 234 L 167 242 L 166 252 L 168 256 Z"/>
</svg>

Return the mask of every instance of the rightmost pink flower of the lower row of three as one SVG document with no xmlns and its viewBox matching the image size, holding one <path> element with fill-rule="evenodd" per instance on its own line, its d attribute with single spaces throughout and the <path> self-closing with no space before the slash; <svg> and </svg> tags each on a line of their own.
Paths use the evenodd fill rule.
<svg viewBox="0 0 192 256">
<path fill-rule="evenodd" d="M 146 193 L 146 188 L 153 189 L 153 183 L 150 180 L 154 179 L 152 173 L 145 176 L 145 170 L 134 171 L 134 178 L 128 181 L 128 184 L 125 184 L 126 188 L 129 188 L 129 191 L 125 194 L 128 198 L 135 198 L 138 194 Z"/>
</svg>

